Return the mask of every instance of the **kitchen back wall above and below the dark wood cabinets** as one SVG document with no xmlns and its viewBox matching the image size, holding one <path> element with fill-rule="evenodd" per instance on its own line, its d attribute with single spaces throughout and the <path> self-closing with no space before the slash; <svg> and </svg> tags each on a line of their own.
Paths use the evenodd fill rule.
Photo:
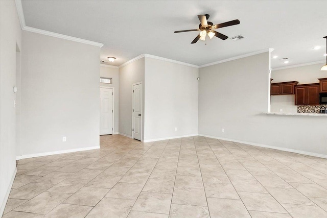
<svg viewBox="0 0 327 218">
<path fill-rule="evenodd" d="M 298 81 L 298 84 L 319 83 L 318 78 L 327 78 L 327 72 L 321 71 L 323 63 L 307 66 L 292 67 L 271 71 L 272 83 Z M 296 113 L 294 94 L 271 95 L 271 112 Z"/>
</svg>

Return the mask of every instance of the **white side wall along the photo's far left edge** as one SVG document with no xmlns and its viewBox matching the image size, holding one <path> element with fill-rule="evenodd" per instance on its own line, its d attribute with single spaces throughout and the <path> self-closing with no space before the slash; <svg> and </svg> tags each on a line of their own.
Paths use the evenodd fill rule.
<svg viewBox="0 0 327 218">
<path fill-rule="evenodd" d="M 21 29 L 14 1 L 0 1 L 0 216 L 15 176 L 16 44 L 21 49 Z M 19 57 L 19 55 L 18 55 Z"/>
</svg>

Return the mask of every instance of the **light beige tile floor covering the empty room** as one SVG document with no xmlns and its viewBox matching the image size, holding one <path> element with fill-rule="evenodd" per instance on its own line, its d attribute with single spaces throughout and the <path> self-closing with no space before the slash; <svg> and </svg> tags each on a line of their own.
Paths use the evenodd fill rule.
<svg viewBox="0 0 327 218">
<path fill-rule="evenodd" d="M 327 217 L 327 159 L 205 137 L 23 159 L 7 217 Z"/>
</svg>

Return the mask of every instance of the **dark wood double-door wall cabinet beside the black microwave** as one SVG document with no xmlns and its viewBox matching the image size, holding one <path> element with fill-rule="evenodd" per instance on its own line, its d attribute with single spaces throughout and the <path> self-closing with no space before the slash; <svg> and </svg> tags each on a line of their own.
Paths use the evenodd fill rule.
<svg viewBox="0 0 327 218">
<path fill-rule="evenodd" d="M 319 83 L 295 85 L 295 105 L 319 105 Z"/>
</svg>

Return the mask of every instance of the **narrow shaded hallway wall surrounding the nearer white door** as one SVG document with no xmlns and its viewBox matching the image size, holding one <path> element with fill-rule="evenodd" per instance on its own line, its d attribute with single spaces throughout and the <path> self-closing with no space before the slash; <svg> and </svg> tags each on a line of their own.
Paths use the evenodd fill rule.
<svg viewBox="0 0 327 218">
<path fill-rule="evenodd" d="M 143 108 L 144 108 L 144 65 L 145 58 L 135 60 L 119 69 L 119 133 L 131 137 L 132 135 L 132 84 L 143 82 Z M 142 116 L 142 129 L 144 133 L 144 116 Z M 143 135 L 144 136 L 144 135 Z M 144 137 L 142 137 L 143 140 Z"/>
</svg>

